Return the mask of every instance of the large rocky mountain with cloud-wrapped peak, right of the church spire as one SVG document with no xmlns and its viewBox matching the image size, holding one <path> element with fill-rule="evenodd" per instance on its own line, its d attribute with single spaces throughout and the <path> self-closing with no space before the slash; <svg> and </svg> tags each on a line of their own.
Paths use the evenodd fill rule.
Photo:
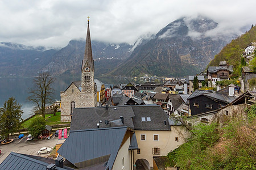
<svg viewBox="0 0 256 170">
<path fill-rule="evenodd" d="M 217 25 L 202 16 L 177 19 L 151 40 L 138 45 L 124 63 L 105 76 L 197 74 L 227 43 L 221 37 L 206 36 Z"/>
</svg>

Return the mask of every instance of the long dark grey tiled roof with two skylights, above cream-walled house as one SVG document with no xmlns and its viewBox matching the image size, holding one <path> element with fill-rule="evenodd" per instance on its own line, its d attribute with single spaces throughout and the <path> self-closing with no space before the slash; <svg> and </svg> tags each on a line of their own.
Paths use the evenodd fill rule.
<svg viewBox="0 0 256 170">
<path fill-rule="evenodd" d="M 122 105 L 97 108 L 75 108 L 73 111 L 71 130 L 97 128 L 97 123 L 102 121 L 100 128 L 118 126 L 111 121 L 124 118 L 123 126 L 134 130 L 170 130 L 164 125 L 168 121 L 168 115 L 159 105 Z M 150 117 L 150 122 L 142 122 L 141 117 Z M 109 124 L 106 125 L 105 121 Z"/>
</svg>

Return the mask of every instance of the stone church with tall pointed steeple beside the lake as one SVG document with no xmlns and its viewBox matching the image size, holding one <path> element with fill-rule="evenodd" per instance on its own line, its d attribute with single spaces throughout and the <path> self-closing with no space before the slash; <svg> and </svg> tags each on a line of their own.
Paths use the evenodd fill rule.
<svg viewBox="0 0 256 170">
<path fill-rule="evenodd" d="M 97 86 L 94 83 L 94 61 L 90 42 L 89 18 L 86 35 L 85 54 L 82 60 L 81 81 L 72 82 L 60 92 L 61 122 L 71 122 L 74 108 L 96 107 Z"/>
</svg>

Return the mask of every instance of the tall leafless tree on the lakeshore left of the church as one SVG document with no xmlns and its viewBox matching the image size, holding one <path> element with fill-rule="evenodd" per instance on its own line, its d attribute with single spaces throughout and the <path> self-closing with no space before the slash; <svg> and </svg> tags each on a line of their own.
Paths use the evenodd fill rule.
<svg viewBox="0 0 256 170">
<path fill-rule="evenodd" d="M 30 96 L 27 97 L 27 100 L 36 104 L 36 108 L 41 111 L 43 118 L 45 118 L 46 104 L 53 102 L 54 90 L 51 87 L 53 82 L 55 82 L 55 78 L 51 77 L 48 72 L 41 73 L 34 78 L 33 87 L 28 88 Z"/>
</svg>

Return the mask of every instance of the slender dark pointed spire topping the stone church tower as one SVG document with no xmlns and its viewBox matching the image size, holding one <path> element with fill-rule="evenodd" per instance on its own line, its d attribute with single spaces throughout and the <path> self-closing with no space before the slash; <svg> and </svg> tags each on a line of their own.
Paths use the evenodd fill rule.
<svg viewBox="0 0 256 170">
<path fill-rule="evenodd" d="M 85 53 L 84 53 L 84 59 L 82 60 L 82 69 L 84 69 L 86 61 L 88 61 L 89 66 L 91 67 L 92 71 L 94 71 L 94 62 L 92 57 L 92 44 L 90 42 L 89 16 L 88 16 Z"/>
</svg>

